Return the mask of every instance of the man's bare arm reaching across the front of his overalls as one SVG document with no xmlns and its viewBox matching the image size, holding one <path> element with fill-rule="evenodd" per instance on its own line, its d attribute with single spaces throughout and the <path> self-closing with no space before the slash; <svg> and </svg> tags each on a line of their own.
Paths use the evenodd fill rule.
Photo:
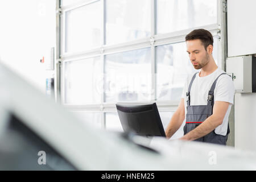
<svg viewBox="0 0 256 182">
<path fill-rule="evenodd" d="M 185 134 L 180 139 L 182 140 L 195 140 L 209 134 L 221 125 L 228 110 L 229 102 L 215 101 L 213 105 L 213 114 L 210 115 L 201 125 Z"/>
</svg>

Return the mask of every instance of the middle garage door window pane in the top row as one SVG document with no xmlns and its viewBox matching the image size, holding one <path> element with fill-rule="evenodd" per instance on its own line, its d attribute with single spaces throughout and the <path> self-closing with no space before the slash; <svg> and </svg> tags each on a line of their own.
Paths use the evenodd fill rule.
<svg viewBox="0 0 256 182">
<path fill-rule="evenodd" d="M 106 0 L 106 44 L 150 36 L 150 1 Z"/>
</svg>

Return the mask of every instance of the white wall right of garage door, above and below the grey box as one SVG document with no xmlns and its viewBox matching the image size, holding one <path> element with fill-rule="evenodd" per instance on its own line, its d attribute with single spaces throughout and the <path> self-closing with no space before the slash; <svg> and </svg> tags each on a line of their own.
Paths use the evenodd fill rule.
<svg viewBox="0 0 256 182">
<path fill-rule="evenodd" d="M 228 56 L 256 53 L 255 7 L 255 0 L 228 0 Z M 234 126 L 235 147 L 256 151 L 256 93 L 235 94 Z"/>
</svg>

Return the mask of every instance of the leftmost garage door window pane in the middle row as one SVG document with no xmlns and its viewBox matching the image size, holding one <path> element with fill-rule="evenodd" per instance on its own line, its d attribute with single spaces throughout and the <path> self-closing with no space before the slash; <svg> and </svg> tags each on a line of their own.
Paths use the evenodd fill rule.
<svg viewBox="0 0 256 182">
<path fill-rule="evenodd" d="M 100 57 L 65 63 L 65 104 L 99 104 L 101 102 Z"/>
</svg>

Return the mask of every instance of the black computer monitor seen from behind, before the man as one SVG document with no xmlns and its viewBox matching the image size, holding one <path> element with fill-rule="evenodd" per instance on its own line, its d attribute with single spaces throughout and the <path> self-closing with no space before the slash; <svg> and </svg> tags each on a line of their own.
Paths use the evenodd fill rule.
<svg viewBox="0 0 256 182">
<path fill-rule="evenodd" d="M 155 103 L 117 103 L 116 106 L 123 131 L 147 137 L 166 137 L 158 107 Z"/>
</svg>

